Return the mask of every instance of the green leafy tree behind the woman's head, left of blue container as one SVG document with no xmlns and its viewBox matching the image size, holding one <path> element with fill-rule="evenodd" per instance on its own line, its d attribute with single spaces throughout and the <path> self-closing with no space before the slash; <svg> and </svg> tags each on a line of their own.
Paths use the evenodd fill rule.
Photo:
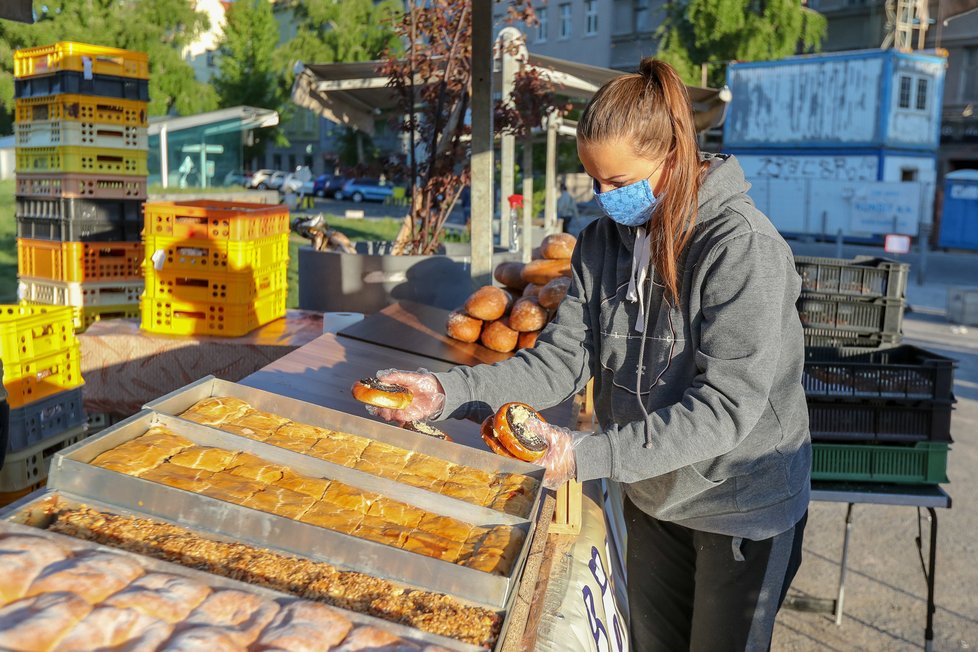
<svg viewBox="0 0 978 652">
<path fill-rule="evenodd" d="M 659 58 L 687 83 L 724 83 L 728 61 L 765 61 L 819 49 L 827 22 L 798 0 L 687 0 L 666 5 Z"/>
</svg>

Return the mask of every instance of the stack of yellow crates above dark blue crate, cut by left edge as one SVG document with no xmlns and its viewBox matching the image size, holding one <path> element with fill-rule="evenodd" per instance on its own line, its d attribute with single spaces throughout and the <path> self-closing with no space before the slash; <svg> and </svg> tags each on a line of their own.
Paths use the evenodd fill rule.
<svg viewBox="0 0 978 652">
<path fill-rule="evenodd" d="M 67 306 L 0 306 L 0 359 L 10 406 L 0 505 L 43 485 L 51 457 L 85 436 L 73 319 Z"/>
</svg>

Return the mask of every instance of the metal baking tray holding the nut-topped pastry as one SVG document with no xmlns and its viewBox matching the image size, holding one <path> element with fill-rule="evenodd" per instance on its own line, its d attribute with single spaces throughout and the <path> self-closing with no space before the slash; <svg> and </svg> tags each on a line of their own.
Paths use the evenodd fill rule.
<svg viewBox="0 0 978 652">
<path fill-rule="evenodd" d="M 82 505 L 87 505 L 92 509 L 112 512 L 114 514 L 120 514 L 124 516 L 137 516 L 142 517 L 143 514 L 136 512 L 128 512 L 127 510 L 121 510 L 118 507 L 107 505 L 104 503 L 99 503 L 97 501 L 92 501 L 80 496 L 73 496 L 71 494 L 62 493 L 53 490 L 41 490 L 39 492 L 34 492 L 30 496 L 20 499 L 16 503 L 13 503 L 7 507 L 0 510 L 0 533 L 3 534 L 30 534 L 37 535 L 37 530 L 43 530 L 44 536 L 50 537 L 51 539 L 62 543 L 65 547 L 72 550 L 100 550 L 106 552 L 112 552 L 113 554 L 126 556 L 134 561 L 136 561 L 140 566 L 145 568 L 147 572 L 156 573 L 169 573 L 171 575 L 180 575 L 186 577 L 195 582 L 200 582 L 201 584 L 206 584 L 211 588 L 219 589 L 234 589 L 236 591 L 244 591 L 248 593 L 254 593 L 263 598 L 274 600 L 280 604 L 284 604 L 286 601 L 294 601 L 299 598 L 289 593 L 282 593 L 280 591 L 275 591 L 262 586 L 256 586 L 254 584 L 247 584 L 245 582 L 239 582 L 237 580 L 232 580 L 230 578 L 222 577 L 220 575 L 213 575 L 204 571 L 195 570 L 193 568 L 188 568 L 186 566 L 181 566 L 180 564 L 175 564 L 168 561 L 163 561 L 162 559 L 157 559 L 155 557 L 148 557 L 145 555 L 139 555 L 126 550 L 120 550 L 118 548 L 112 548 L 111 546 L 105 546 L 102 544 L 94 543 L 92 541 L 85 541 L 83 539 L 75 539 L 73 537 L 60 534 L 57 532 L 47 531 L 48 526 L 53 520 L 53 512 L 57 509 L 72 509 L 77 508 Z M 174 525 L 182 525 L 179 523 L 174 523 Z M 189 529 L 189 528 L 188 528 Z M 206 535 L 211 538 L 213 535 Z M 356 611 L 347 611 L 346 609 L 341 609 L 339 607 L 330 607 L 336 611 L 342 613 L 346 618 L 352 621 L 356 625 L 371 625 L 384 631 L 390 632 L 411 640 L 415 643 L 421 645 L 439 645 L 449 650 L 455 650 L 457 652 L 484 652 L 484 648 L 476 645 L 471 645 L 469 643 L 463 643 L 453 638 L 447 638 L 445 636 L 439 636 L 437 634 L 431 634 L 420 629 L 414 629 L 413 627 L 408 627 L 407 625 L 401 625 L 398 623 L 393 623 L 388 620 L 382 620 L 380 618 L 375 618 L 373 616 L 368 616 L 366 614 L 361 614 Z M 501 641 L 503 638 L 502 634 L 499 636 Z M 497 646 L 499 643 L 497 642 Z"/>
</svg>

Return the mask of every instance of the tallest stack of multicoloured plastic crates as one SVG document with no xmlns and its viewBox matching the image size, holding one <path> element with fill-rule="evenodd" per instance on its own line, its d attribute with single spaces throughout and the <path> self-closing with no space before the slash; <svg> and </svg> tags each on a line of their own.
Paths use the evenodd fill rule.
<svg viewBox="0 0 978 652">
<path fill-rule="evenodd" d="M 78 331 L 135 317 L 146 199 L 146 55 L 62 42 L 14 54 L 21 299 Z"/>
</svg>

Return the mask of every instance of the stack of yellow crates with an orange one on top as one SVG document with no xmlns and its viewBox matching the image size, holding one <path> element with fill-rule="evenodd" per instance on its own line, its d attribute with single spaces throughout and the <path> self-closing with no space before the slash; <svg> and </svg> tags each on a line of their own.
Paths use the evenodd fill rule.
<svg viewBox="0 0 978 652">
<path fill-rule="evenodd" d="M 280 205 L 152 202 L 142 327 L 236 337 L 285 316 L 289 213 Z"/>
</svg>

